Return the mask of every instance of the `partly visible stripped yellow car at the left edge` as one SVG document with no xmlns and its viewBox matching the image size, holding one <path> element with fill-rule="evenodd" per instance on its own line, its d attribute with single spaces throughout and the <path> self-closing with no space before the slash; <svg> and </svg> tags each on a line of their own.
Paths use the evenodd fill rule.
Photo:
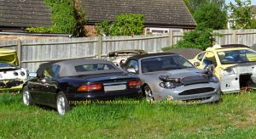
<svg viewBox="0 0 256 139">
<path fill-rule="evenodd" d="M 27 79 L 27 70 L 19 68 L 15 50 L 0 49 L 0 92 L 20 91 Z"/>
</svg>

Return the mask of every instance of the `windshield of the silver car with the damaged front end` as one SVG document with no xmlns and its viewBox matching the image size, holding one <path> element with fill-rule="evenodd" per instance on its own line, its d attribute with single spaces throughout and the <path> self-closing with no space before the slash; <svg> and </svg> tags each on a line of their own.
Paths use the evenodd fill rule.
<svg viewBox="0 0 256 139">
<path fill-rule="evenodd" d="M 145 58 L 142 60 L 143 73 L 170 70 L 194 68 L 194 65 L 179 55 L 160 56 L 154 58 Z"/>
</svg>

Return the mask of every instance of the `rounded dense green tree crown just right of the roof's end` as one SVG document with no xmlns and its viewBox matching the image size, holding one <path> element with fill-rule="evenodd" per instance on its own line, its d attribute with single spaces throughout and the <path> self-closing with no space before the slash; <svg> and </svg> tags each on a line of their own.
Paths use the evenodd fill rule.
<svg viewBox="0 0 256 139">
<path fill-rule="evenodd" d="M 213 30 L 224 29 L 227 25 L 227 13 L 217 3 L 205 3 L 193 14 L 197 24 L 203 23 L 205 27 Z"/>
</svg>

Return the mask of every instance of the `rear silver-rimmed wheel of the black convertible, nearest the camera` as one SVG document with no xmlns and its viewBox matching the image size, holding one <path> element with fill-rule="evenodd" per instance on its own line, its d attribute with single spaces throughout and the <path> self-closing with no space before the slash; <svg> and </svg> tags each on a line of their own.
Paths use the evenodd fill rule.
<svg viewBox="0 0 256 139">
<path fill-rule="evenodd" d="M 66 112 L 70 108 L 69 103 L 67 102 L 67 97 L 63 92 L 58 93 L 56 97 L 56 105 L 57 111 L 60 115 L 66 114 Z"/>
</svg>

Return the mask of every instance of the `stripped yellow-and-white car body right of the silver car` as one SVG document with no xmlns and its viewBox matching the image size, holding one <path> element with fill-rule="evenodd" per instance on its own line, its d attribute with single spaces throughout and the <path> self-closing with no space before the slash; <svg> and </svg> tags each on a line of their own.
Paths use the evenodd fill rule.
<svg viewBox="0 0 256 139">
<path fill-rule="evenodd" d="M 256 52 L 247 46 L 215 45 L 196 55 L 190 62 L 200 69 L 212 67 L 223 93 L 256 89 Z"/>
</svg>

